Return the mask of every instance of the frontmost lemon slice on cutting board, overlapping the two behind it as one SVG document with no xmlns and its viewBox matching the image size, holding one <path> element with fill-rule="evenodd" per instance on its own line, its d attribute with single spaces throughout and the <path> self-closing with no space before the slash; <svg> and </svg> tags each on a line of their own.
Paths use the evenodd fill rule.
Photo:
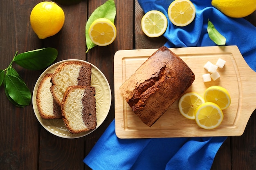
<svg viewBox="0 0 256 170">
<path fill-rule="evenodd" d="M 222 110 L 217 104 L 205 102 L 196 109 L 195 122 L 201 128 L 213 129 L 221 124 L 223 117 Z"/>
</svg>

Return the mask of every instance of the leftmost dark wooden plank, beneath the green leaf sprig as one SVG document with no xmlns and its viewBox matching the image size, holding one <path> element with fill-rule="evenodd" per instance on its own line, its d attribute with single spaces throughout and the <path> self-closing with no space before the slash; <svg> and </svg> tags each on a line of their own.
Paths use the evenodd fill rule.
<svg viewBox="0 0 256 170">
<path fill-rule="evenodd" d="M 35 3 L 35 1 L 33 2 Z M 16 51 L 22 53 L 41 47 L 34 32 L 28 29 L 34 4 L 29 1 L 0 1 L 0 69 L 7 68 Z M 13 64 L 30 91 L 40 71 L 29 71 Z M 1 169 L 36 169 L 39 124 L 31 104 L 25 108 L 12 105 L 0 87 L 0 165 Z"/>
</svg>

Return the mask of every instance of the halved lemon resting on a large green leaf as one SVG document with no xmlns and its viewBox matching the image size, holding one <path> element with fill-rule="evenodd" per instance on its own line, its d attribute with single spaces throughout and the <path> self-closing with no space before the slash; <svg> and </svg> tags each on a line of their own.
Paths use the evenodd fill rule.
<svg viewBox="0 0 256 170">
<path fill-rule="evenodd" d="M 94 44 L 98 46 L 106 46 L 115 40 L 117 29 L 115 24 L 107 18 L 99 18 L 92 22 L 88 33 Z"/>
</svg>

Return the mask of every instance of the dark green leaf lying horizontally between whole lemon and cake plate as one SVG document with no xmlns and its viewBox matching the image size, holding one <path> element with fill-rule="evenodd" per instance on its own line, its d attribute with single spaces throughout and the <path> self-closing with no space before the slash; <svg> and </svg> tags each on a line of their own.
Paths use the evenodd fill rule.
<svg viewBox="0 0 256 170">
<path fill-rule="evenodd" d="M 16 55 L 13 61 L 29 70 L 41 70 L 54 62 L 58 51 L 54 48 L 37 49 Z"/>
</svg>

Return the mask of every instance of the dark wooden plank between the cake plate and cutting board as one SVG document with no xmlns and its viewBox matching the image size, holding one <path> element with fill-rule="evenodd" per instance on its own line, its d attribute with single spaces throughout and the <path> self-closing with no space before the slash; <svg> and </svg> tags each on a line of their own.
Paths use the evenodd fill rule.
<svg viewBox="0 0 256 170">
<path fill-rule="evenodd" d="M 89 16 L 99 7 L 105 3 L 106 0 L 89 1 Z M 95 46 L 87 53 L 88 62 L 97 66 L 108 79 L 112 93 L 112 104 L 108 117 L 103 124 L 93 133 L 85 138 L 85 155 L 88 155 L 94 144 L 101 137 L 102 133 L 111 123 L 115 117 L 114 107 L 114 55 L 118 50 L 133 48 L 133 0 L 124 1 L 115 0 L 117 15 L 115 18 L 115 26 L 117 27 L 117 38 L 108 46 Z M 90 168 L 85 165 L 86 170 Z"/>
</svg>

